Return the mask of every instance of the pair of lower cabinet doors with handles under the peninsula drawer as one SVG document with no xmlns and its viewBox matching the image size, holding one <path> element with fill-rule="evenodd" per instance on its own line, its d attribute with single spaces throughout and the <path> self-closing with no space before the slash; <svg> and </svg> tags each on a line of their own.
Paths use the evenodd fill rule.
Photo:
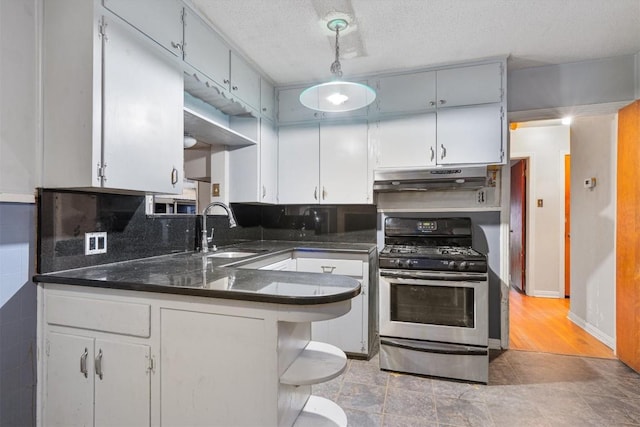
<svg viewBox="0 0 640 427">
<path fill-rule="evenodd" d="M 149 346 L 115 337 L 49 333 L 42 424 L 150 425 L 150 357 Z"/>
</svg>

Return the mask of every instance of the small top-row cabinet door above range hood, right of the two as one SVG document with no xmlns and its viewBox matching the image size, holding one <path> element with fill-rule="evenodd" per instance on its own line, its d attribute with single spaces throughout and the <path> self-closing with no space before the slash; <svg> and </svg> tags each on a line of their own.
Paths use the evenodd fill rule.
<svg viewBox="0 0 640 427">
<path fill-rule="evenodd" d="M 438 107 L 502 101 L 502 64 L 472 65 L 438 71 Z"/>
</svg>

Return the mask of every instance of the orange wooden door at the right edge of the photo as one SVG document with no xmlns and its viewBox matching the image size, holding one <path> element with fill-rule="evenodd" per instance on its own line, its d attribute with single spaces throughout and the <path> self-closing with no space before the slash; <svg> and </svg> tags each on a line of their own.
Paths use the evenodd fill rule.
<svg viewBox="0 0 640 427">
<path fill-rule="evenodd" d="M 616 354 L 640 372 L 640 101 L 618 112 Z"/>
</svg>

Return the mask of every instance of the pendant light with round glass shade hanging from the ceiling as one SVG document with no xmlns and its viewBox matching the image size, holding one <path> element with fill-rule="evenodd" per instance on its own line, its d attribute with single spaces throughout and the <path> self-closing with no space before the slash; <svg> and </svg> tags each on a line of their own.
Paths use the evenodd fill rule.
<svg viewBox="0 0 640 427">
<path fill-rule="evenodd" d="M 317 111 L 340 113 L 364 108 L 376 99 L 376 92 L 371 87 L 342 80 L 339 37 L 340 31 L 348 26 L 349 23 L 343 18 L 332 19 L 327 23 L 327 27 L 336 33 L 336 59 L 330 67 L 334 79 L 305 89 L 300 94 L 300 102 L 305 107 Z"/>
</svg>

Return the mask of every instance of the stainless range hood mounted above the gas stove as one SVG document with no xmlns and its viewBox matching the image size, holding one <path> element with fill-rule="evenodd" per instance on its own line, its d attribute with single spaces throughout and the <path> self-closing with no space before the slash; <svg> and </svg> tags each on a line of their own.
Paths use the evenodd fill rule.
<svg viewBox="0 0 640 427">
<path fill-rule="evenodd" d="M 373 191 L 477 190 L 487 185 L 487 167 L 376 170 Z"/>
</svg>

